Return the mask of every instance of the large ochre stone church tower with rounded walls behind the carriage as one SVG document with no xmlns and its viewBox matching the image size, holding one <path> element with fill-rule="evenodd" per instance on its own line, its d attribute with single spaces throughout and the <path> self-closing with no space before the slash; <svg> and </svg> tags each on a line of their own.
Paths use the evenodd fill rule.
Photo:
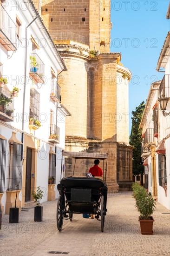
<svg viewBox="0 0 170 256">
<path fill-rule="evenodd" d="M 120 53 L 110 53 L 111 1 L 40 2 L 42 19 L 67 67 L 59 77 L 61 101 L 72 114 L 66 120 L 65 149 L 109 153 L 109 191 L 129 187 L 131 71 L 120 63 Z M 92 164 L 79 161 L 75 174 L 84 175 Z M 66 175 L 71 175 L 72 159 L 68 158 L 65 165 Z"/>
</svg>

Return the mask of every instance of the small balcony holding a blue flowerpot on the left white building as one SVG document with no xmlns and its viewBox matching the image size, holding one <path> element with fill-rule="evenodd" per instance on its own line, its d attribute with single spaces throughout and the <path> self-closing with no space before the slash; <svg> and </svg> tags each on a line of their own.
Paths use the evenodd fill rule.
<svg viewBox="0 0 170 256">
<path fill-rule="evenodd" d="M 44 69 L 45 65 L 43 61 L 39 58 L 38 54 L 30 54 L 30 72 L 29 74 L 38 83 L 44 83 Z"/>
</svg>

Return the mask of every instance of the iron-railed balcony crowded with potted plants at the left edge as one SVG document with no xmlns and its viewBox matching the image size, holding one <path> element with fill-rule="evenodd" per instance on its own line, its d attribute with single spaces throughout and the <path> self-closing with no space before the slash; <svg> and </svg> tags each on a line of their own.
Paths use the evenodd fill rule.
<svg viewBox="0 0 170 256">
<path fill-rule="evenodd" d="M 0 88 L 0 120 L 13 121 L 13 98 L 6 86 Z"/>
</svg>

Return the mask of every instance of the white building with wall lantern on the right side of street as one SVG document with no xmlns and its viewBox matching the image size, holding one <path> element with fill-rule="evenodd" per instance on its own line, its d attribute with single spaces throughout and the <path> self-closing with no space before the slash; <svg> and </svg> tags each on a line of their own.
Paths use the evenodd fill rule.
<svg viewBox="0 0 170 256">
<path fill-rule="evenodd" d="M 170 32 L 161 51 L 157 71 L 162 81 L 151 84 L 140 128 L 143 129 L 145 188 L 170 209 Z"/>
</svg>

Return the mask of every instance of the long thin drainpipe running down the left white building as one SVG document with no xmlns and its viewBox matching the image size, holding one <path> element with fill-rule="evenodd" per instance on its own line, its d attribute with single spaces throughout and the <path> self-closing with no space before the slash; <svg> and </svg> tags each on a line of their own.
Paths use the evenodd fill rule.
<svg viewBox="0 0 170 256">
<path fill-rule="evenodd" d="M 38 18 L 38 15 L 28 24 L 26 27 L 26 41 L 27 41 L 27 28 Z M 21 142 L 24 142 L 24 111 L 25 111 L 25 98 L 26 98 L 26 59 L 27 59 L 27 47 L 25 48 L 25 61 L 24 61 L 24 92 L 23 92 L 23 104 L 22 104 L 22 137 Z M 23 160 L 23 144 L 21 160 Z"/>
</svg>

